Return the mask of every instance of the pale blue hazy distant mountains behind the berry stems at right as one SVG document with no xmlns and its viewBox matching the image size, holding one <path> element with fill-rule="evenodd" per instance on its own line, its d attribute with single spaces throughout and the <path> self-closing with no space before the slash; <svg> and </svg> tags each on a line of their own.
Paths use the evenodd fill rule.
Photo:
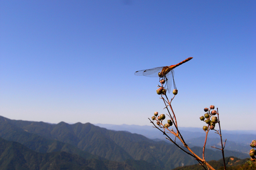
<svg viewBox="0 0 256 170">
<path fill-rule="evenodd" d="M 137 133 L 150 139 L 154 139 L 154 140 L 160 139 L 168 142 L 168 140 L 165 139 L 164 135 L 156 128 L 153 128 L 153 126 L 110 125 L 110 124 L 94 124 L 94 125 L 102 128 L 110 129 L 110 130 L 128 131 L 131 133 Z M 190 146 L 193 146 L 193 145 L 198 147 L 203 146 L 204 139 L 205 139 L 205 132 L 202 130 L 202 128 L 179 127 L 179 130 L 183 138 L 185 139 L 185 141 Z M 248 151 L 251 149 L 249 144 L 253 140 L 253 137 L 255 135 L 256 135 L 256 131 L 252 131 L 252 130 L 247 130 L 247 131 L 222 130 L 223 139 L 224 140 L 227 139 L 225 149 L 230 151 L 243 152 L 245 154 L 248 154 Z M 207 143 L 206 143 L 206 148 L 208 149 L 212 149 L 211 146 L 218 147 L 221 144 L 219 135 L 215 134 L 214 131 L 210 131 L 208 135 L 208 139 L 209 140 L 207 140 Z"/>
</svg>

